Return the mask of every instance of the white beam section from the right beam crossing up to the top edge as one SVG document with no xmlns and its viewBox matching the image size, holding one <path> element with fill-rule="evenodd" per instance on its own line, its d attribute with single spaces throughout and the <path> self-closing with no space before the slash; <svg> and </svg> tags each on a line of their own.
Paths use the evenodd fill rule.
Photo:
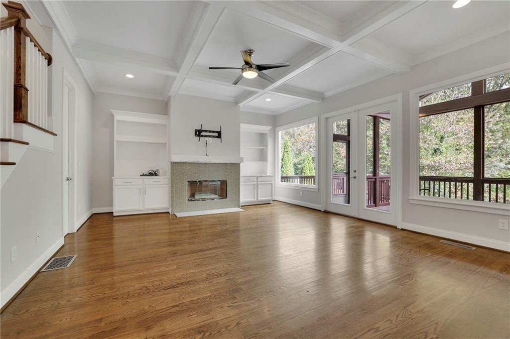
<svg viewBox="0 0 510 339">
<path fill-rule="evenodd" d="M 369 36 L 375 31 L 385 27 L 387 24 L 395 21 L 402 15 L 405 15 L 411 12 L 412 10 L 420 7 L 426 2 L 427 0 L 396 2 L 395 4 L 385 9 L 384 11 L 381 11 L 380 13 L 376 14 L 369 20 L 359 25 L 356 25 L 356 27 L 352 28 L 350 32 L 348 32 L 342 37 L 342 42 L 350 46 L 353 43 Z"/>
</svg>

